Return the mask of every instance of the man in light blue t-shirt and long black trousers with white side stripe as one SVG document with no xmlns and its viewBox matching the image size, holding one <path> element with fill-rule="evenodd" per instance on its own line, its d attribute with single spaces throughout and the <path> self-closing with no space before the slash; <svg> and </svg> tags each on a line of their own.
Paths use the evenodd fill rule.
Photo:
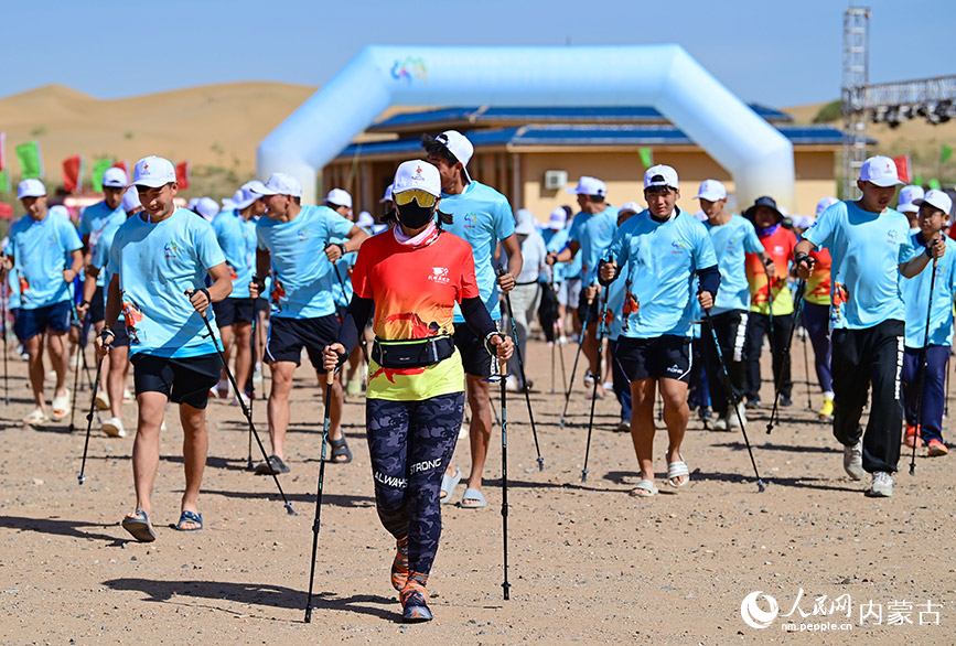
<svg viewBox="0 0 956 646">
<path fill-rule="evenodd" d="M 931 258 L 942 258 L 946 248 L 938 237 L 925 252 L 914 247 L 906 217 L 890 208 L 901 183 L 893 160 L 868 159 L 857 181 L 862 196 L 827 208 L 794 250 L 804 280 L 813 271 L 812 249 L 827 247 L 833 256 L 834 437 L 844 445 L 844 470 L 853 480 L 872 474 L 867 493 L 879 497 L 893 495 L 903 423 L 900 370 L 905 305 L 899 274 L 913 278 Z M 870 384 L 864 433 L 859 422 Z"/>
</svg>

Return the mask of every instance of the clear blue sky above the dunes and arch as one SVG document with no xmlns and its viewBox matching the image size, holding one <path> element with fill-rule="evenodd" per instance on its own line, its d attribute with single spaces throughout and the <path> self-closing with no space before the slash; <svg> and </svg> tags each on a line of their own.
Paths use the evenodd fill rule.
<svg viewBox="0 0 956 646">
<path fill-rule="evenodd" d="M 678 43 L 742 99 L 777 107 L 839 97 L 847 7 L 839 0 L 3 4 L 0 96 L 50 83 L 99 98 L 235 80 L 321 85 L 367 44 Z M 866 6 L 872 83 L 956 73 L 952 0 Z"/>
</svg>

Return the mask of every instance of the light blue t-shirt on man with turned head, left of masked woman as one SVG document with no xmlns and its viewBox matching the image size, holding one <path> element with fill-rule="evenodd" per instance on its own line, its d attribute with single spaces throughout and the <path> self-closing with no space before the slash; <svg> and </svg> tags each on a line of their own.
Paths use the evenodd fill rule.
<svg viewBox="0 0 956 646">
<path fill-rule="evenodd" d="M 348 236 L 354 225 L 327 206 L 303 206 L 290 222 L 259 218 L 259 247 L 272 265 L 272 316 L 318 319 L 335 313 L 336 281 L 325 245 Z"/>
</svg>

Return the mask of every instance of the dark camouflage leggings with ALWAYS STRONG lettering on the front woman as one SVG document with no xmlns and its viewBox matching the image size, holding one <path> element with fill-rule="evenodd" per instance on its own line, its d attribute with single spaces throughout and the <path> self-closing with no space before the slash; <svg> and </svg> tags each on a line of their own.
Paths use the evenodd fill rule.
<svg viewBox="0 0 956 646">
<path fill-rule="evenodd" d="M 464 414 L 464 392 L 420 401 L 366 400 L 366 435 L 382 525 L 408 536 L 408 566 L 428 574 L 441 537 L 441 476 Z"/>
</svg>

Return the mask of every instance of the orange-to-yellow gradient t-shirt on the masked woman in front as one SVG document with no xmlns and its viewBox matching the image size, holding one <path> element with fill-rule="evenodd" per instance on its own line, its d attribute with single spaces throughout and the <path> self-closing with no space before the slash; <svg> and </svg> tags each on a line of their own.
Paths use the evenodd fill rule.
<svg viewBox="0 0 956 646">
<path fill-rule="evenodd" d="M 399 244 L 390 230 L 373 236 L 358 249 L 352 286 L 355 295 L 375 301 L 379 341 L 451 335 L 454 303 L 480 297 L 471 247 L 447 232 L 419 247 Z M 369 357 L 369 399 L 412 401 L 463 390 L 458 351 L 423 368 L 383 368 Z"/>
</svg>

